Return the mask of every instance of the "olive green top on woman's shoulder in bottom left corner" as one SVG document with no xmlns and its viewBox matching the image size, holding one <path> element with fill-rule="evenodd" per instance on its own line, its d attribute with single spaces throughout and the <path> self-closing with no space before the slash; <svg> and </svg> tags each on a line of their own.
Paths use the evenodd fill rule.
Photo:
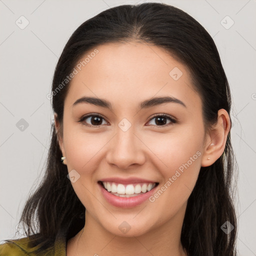
<svg viewBox="0 0 256 256">
<path fill-rule="evenodd" d="M 52 246 L 47 249 L 41 248 L 37 252 L 34 250 L 42 247 L 42 243 L 35 243 L 28 237 L 5 241 L 5 243 L 0 244 L 0 256 L 66 256 L 66 229 L 58 231 Z"/>
</svg>

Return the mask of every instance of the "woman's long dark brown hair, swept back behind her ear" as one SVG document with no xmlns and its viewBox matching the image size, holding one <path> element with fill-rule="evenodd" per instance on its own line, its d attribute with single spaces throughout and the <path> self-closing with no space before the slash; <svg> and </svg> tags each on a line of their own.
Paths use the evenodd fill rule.
<svg viewBox="0 0 256 256">
<path fill-rule="evenodd" d="M 70 74 L 84 53 L 97 45 L 135 39 L 162 47 L 186 65 L 201 96 L 205 127 L 215 123 L 217 111 L 230 113 L 231 97 L 217 48 L 208 32 L 186 12 L 163 3 L 120 5 L 82 23 L 67 41 L 57 62 L 52 82 L 52 109 L 62 124 L 64 99 L 69 82 L 56 88 Z M 55 93 L 53 93 L 55 91 Z M 50 246 L 56 233 L 70 223 L 67 238 L 84 225 L 85 208 L 76 196 L 62 156 L 54 122 L 43 180 L 25 203 L 20 222 L 37 231 L 37 239 Z M 234 153 L 227 136 L 223 154 L 210 166 L 201 167 L 188 198 L 181 243 L 189 255 L 236 255 L 236 216 L 233 205 Z M 229 221 L 233 230 L 221 226 Z"/>
</svg>

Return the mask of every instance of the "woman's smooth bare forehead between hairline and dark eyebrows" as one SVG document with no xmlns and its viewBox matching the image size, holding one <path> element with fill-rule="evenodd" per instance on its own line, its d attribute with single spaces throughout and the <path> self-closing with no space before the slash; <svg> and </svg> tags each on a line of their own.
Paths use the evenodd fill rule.
<svg viewBox="0 0 256 256">
<path fill-rule="evenodd" d="M 105 98 L 118 107 L 166 95 L 200 106 L 188 68 L 159 46 L 107 43 L 87 51 L 79 63 L 65 99 L 70 107 L 82 96 Z"/>
</svg>

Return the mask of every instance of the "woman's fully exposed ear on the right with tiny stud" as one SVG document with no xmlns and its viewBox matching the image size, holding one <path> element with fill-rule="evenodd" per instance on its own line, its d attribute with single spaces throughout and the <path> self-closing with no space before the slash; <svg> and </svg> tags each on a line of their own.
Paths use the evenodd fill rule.
<svg viewBox="0 0 256 256">
<path fill-rule="evenodd" d="M 201 158 L 202 167 L 211 165 L 221 156 L 230 126 L 227 111 L 223 108 L 219 109 L 216 123 L 207 131 L 205 136 L 204 152 Z"/>
</svg>

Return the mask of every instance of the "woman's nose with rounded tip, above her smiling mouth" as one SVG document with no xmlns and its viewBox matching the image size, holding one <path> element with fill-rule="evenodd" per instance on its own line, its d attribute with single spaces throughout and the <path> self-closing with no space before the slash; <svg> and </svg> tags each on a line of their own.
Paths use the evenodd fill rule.
<svg viewBox="0 0 256 256">
<path fill-rule="evenodd" d="M 115 136 L 109 141 L 106 161 L 120 169 L 127 169 L 130 165 L 142 165 L 145 162 L 143 149 L 145 145 L 130 127 L 123 131 L 117 128 Z"/>
</svg>

